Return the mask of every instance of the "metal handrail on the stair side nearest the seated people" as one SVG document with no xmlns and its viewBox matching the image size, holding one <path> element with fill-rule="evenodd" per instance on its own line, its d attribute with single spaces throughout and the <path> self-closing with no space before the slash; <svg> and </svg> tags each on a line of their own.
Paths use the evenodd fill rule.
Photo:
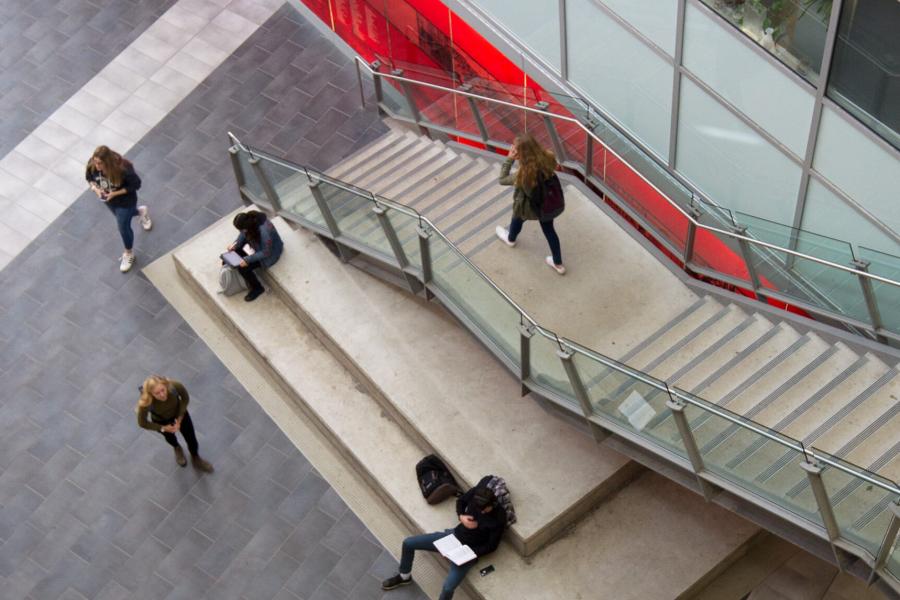
<svg viewBox="0 0 900 600">
<path fill-rule="evenodd" d="M 346 185 L 343 184 L 343 182 L 335 180 L 334 178 L 321 173 L 317 169 L 312 169 L 312 168 L 304 166 L 304 165 L 297 165 L 297 164 L 291 163 L 290 161 L 286 161 L 283 159 L 276 159 L 274 157 L 267 155 L 264 152 L 260 152 L 258 150 L 253 150 L 250 147 L 244 145 L 231 132 L 228 132 L 228 136 L 232 139 L 232 141 L 235 143 L 235 145 L 237 145 L 239 148 L 243 149 L 245 152 L 247 152 L 251 156 L 255 155 L 255 156 L 263 158 L 264 160 L 277 163 L 288 169 L 293 169 L 298 172 L 302 171 L 302 172 L 306 173 L 307 176 L 309 176 L 310 173 L 313 173 L 317 178 L 327 180 L 329 184 L 333 183 L 337 187 L 340 187 L 341 189 L 344 189 L 350 193 L 356 194 L 357 196 L 359 196 L 361 198 L 366 198 L 368 200 L 372 200 L 375 197 L 375 194 L 372 192 L 369 192 L 371 194 L 371 196 L 369 196 L 369 195 L 360 193 L 359 190 L 350 189 L 350 188 L 346 187 Z M 783 434 L 780 434 L 779 432 L 777 432 L 775 430 L 771 430 L 770 428 L 768 428 L 760 423 L 756 423 L 755 421 L 753 421 L 751 419 L 747 419 L 746 417 L 739 417 L 739 416 L 730 414 L 728 411 L 722 410 L 714 405 L 711 405 L 710 403 L 701 402 L 698 399 L 694 398 L 692 395 L 690 395 L 689 392 L 685 392 L 674 386 L 668 386 L 664 382 L 660 382 L 660 381 L 656 380 L 655 378 L 653 378 L 652 376 L 649 376 L 645 373 L 637 371 L 636 369 L 632 369 L 631 367 L 628 367 L 627 365 L 622 365 L 622 364 L 618 363 L 617 361 L 615 361 L 614 359 L 606 357 L 606 356 L 604 356 L 594 350 L 591 350 L 589 348 L 585 348 L 584 346 L 577 344 L 576 342 L 573 342 L 566 338 L 560 338 L 553 331 L 546 329 L 546 328 L 542 327 L 540 324 L 538 324 L 538 322 L 536 320 L 534 320 L 525 311 L 525 309 L 523 309 L 521 306 L 519 306 L 512 298 L 509 297 L 509 295 L 506 292 L 504 292 L 502 289 L 500 289 L 497 286 L 497 284 L 494 283 L 493 280 L 491 280 L 491 278 L 488 277 L 484 273 L 484 271 L 482 271 L 480 268 L 478 268 L 478 266 L 476 266 L 471 260 L 469 260 L 469 258 L 467 256 L 465 256 L 462 252 L 460 252 L 459 249 L 456 247 L 456 244 L 454 244 L 452 241 L 450 241 L 450 239 L 447 238 L 447 236 L 444 235 L 444 233 L 440 229 L 438 229 L 438 227 L 430 219 L 428 219 L 425 216 L 422 216 L 420 213 L 418 213 L 418 211 L 416 211 L 415 209 L 413 209 L 411 207 L 408 207 L 399 202 L 395 202 L 388 198 L 382 198 L 379 196 L 378 203 L 382 203 L 382 202 L 385 205 L 390 206 L 393 209 L 397 209 L 397 210 L 400 210 L 401 212 L 405 212 L 407 215 L 417 217 L 421 222 L 427 223 L 428 226 L 431 228 L 431 230 L 435 234 L 439 235 L 447 243 L 447 245 L 456 252 L 457 256 L 466 265 L 468 265 L 473 271 L 475 271 L 475 273 L 477 273 L 478 276 L 481 277 L 481 279 L 488 286 L 490 286 L 495 292 L 497 292 L 500 296 L 502 296 L 516 311 L 518 311 L 521 319 L 524 319 L 524 320 L 528 321 L 529 323 L 531 323 L 531 325 L 534 326 L 534 329 L 539 334 L 541 334 L 543 337 L 545 337 L 549 340 L 552 340 L 560 345 L 563 345 L 574 352 L 583 354 L 583 355 L 587 356 L 588 358 L 595 360 L 596 362 L 604 364 L 607 367 L 614 369 L 615 371 L 618 371 L 619 373 L 623 373 L 623 374 L 627 375 L 628 377 L 631 377 L 633 379 L 641 381 L 641 382 L 643 382 L 647 385 L 650 385 L 660 391 L 664 391 L 664 392 L 668 393 L 670 395 L 670 397 L 674 395 L 674 396 L 678 397 L 679 399 L 691 404 L 692 406 L 698 407 L 702 411 L 715 414 L 716 416 L 719 416 L 727 421 L 730 421 L 731 423 L 733 423 L 739 427 L 749 429 L 749 430 L 753 431 L 754 433 L 756 433 L 762 437 L 765 437 L 766 439 L 769 439 L 778 444 L 781 444 L 782 446 L 784 446 L 786 448 L 803 453 L 805 455 L 812 456 L 816 460 L 818 460 L 822 463 L 828 464 L 829 466 L 831 466 L 835 469 L 838 469 L 839 471 L 843 471 L 844 473 L 847 473 L 848 475 L 851 475 L 853 477 L 859 477 L 860 479 L 863 479 L 866 482 L 885 490 L 886 492 L 900 495 L 900 487 L 891 486 L 889 484 L 884 483 L 883 481 L 876 479 L 875 477 L 869 475 L 868 471 L 866 471 L 862 467 L 857 467 L 858 470 L 850 469 L 841 463 L 835 462 L 826 456 L 822 456 L 822 455 L 816 453 L 813 449 L 806 449 L 801 443 L 796 442 L 796 440 L 793 440 L 792 438 L 789 438 L 788 436 L 784 436 Z M 773 431 L 775 431 L 775 433 L 772 433 Z M 787 439 L 785 439 L 785 438 L 787 438 Z M 792 442 L 796 442 L 796 444 L 792 443 Z"/>
</svg>

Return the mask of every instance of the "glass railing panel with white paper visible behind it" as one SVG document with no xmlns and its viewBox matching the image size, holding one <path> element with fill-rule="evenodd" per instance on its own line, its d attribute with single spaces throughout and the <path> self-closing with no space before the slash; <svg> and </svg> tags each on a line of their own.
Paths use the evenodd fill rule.
<svg viewBox="0 0 900 600">
<path fill-rule="evenodd" d="M 687 459 L 679 435 L 657 428 L 671 410 L 665 384 L 625 365 L 607 366 L 586 353 L 576 352 L 573 360 L 584 383 L 593 414 L 609 419 L 632 433 Z M 612 361 L 610 361 L 612 362 Z"/>
</svg>

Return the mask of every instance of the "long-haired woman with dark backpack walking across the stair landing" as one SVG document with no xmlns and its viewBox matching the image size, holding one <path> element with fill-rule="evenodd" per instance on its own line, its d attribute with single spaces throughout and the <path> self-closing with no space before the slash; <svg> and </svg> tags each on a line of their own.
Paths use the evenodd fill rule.
<svg viewBox="0 0 900 600">
<path fill-rule="evenodd" d="M 519 168 L 515 173 L 510 174 L 516 160 L 519 161 Z M 547 238 L 547 244 L 550 246 L 550 256 L 545 259 L 545 262 L 554 271 L 563 275 L 566 268 L 562 264 L 562 248 L 559 236 L 553 228 L 553 219 L 542 219 L 532 205 L 532 197 L 536 193 L 540 193 L 538 190 L 540 181 L 552 177 L 556 166 L 556 156 L 549 150 L 544 150 L 530 133 L 516 137 L 506 161 L 500 168 L 500 185 L 515 186 L 513 216 L 509 229 L 498 225 L 495 232 L 504 244 L 513 247 L 516 245 L 516 238 L 522 231 L 525 221 L 538 221 L 544 237 Z"/>
</svg>

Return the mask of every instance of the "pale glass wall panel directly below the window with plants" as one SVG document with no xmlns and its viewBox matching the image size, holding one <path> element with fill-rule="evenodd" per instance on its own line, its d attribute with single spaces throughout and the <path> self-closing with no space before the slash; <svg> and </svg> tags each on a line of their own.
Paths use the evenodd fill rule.
<svg viewBox="0 0 900 600">
<path fill-rule="evenodd" d="M 806 153 L 814 97 L 722 27 L 708 11 L 688 5 L 684 65 L 799 157 Z"/>
</svg>

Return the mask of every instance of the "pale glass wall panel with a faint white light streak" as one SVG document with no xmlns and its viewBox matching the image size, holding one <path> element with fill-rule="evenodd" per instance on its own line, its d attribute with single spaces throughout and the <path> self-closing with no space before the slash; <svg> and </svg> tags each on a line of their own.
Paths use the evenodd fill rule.
<svg viewBox="0 0 900 600">
<path fill-rule="evenodd" d="M 775 221 L 794 216 L 800 166 L 688 78 L 681 82 L 676 167 L 720 206 Z"/>
</svg>

